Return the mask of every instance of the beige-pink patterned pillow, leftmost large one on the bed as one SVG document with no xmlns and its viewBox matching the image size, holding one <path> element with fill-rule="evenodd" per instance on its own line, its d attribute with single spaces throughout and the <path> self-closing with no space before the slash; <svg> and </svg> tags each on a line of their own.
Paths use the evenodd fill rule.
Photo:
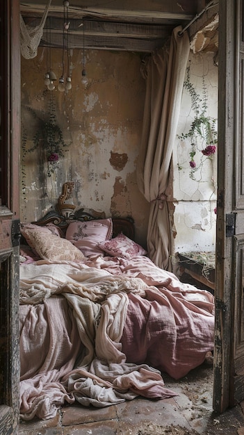
<svg viewBox="0 0 244 435">
<path fill-rule="evenodd" d="M 28 230 L 26 231 L 28 232 Z M 57 237 L 51 231 L 31 229 L 28 232 L 28 238 L 31 245 L 34 246 L 35 252 L 44 260 L 77 261 L 86 258 L 69 240 Z"/>
</svg>

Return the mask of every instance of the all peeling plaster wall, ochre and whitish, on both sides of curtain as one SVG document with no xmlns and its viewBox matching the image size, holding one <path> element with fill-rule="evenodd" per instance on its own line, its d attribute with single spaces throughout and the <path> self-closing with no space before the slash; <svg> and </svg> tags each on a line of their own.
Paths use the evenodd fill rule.
<svg viewBox="0 0 244 435">
<path fill-rule="evenodd" d="M 47 110 L 50 92 L 44 85 L 46 54 L 46 49 L 40 48 L 36 58 L 22 58 L 22 131 L 27 133 L 27 147 L 32 145 L 36 124 L 26 106 L 40 115 Z M 52 49 L 51 59 L 59 77 L 61 51 Z M 140 57 L 126 52 L 87 51 L 87 88 L 81 84 L 82 60 L 82 51 L 72 51 L 72 90 L 53 92 L 58 124 L 65 142 L 71 145 L 51 177 L 47 177 L 42 150 L 26 156 L 21 220 L 42 217 L 55 207 L 63 183 L 74 181 L 74 204 L 105 211 L 106 216 L 131 215 L 136 240 L 146 247 L 149 204 L 136 183 L 145 99 Z M 217 117 L 218 68 L 213 65 L 213 55 L 190 54 L 190 61 L 190 81 L 201 90 L 204 74 L 209 115 Z M 189 95 L 184 90 L 177 134 L 187 131 L 192 119 Z M 213 165 L 204 165 L 201 179 L 196 182 L 189 178 L 188 150 L 187 142 L 177 138 L 173 154 L 174 251 L 211 251 L 215 249 L 216 158 Z"/>
</svg>

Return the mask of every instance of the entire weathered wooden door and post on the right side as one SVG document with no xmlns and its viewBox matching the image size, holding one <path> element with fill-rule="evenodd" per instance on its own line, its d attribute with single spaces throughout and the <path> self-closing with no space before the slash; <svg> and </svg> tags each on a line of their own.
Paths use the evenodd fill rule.
<svg viewBox="0 0 244 435">
<path fill-rule="evenodd" d="M 213 408 L 244 399 L 243 0 L 220 0 Z M 232 217 L 233 219 L 230 219 Z M 229 220 L 234 231 L 229 231 Z"/>
</svg>

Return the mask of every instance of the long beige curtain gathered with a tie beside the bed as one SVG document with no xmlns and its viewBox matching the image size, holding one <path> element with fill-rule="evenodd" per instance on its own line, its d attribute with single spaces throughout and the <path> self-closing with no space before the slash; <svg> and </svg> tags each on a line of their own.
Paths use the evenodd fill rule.
<svg viewBox="0 0 244 435">
<path fill-rule="evenodd" d="M 142 68 L 146 96 L 137 167 L 138 186 L 151 204 L 147 230 L 149 257 L 165 270 L 172 270 L 170 162 L 190 50 L 187 33 L 179 36 L 179 31 L 181 27 L 174 28 L 170 45 L 149 56 Z"/>
</svg>

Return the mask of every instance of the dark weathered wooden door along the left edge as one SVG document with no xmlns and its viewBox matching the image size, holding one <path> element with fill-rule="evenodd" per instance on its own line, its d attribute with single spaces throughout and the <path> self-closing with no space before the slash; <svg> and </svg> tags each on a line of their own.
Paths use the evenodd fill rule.
<svg viewBox="0 0 244 435">
<path fill-rule="evenodd" d="M 19 1 L 0 2 L 0 434 L 19 421 Z"/>
</svg>

